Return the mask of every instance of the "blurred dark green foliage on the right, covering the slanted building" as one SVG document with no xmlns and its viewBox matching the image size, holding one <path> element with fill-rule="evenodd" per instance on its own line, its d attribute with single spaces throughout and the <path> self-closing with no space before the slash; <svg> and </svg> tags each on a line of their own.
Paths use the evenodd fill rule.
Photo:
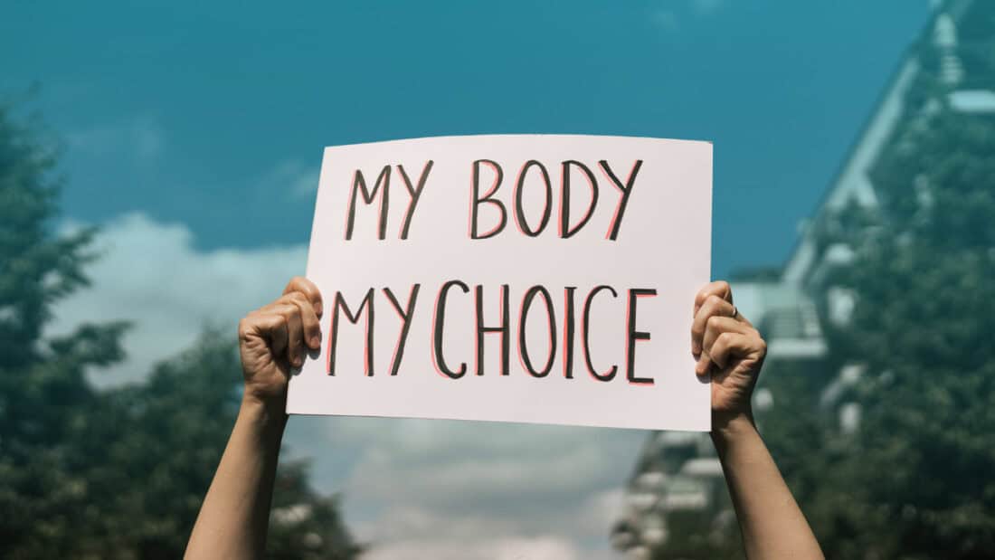
<svg viewBox="0 0 995 560">
<path fill-rule="evenodd" d="M 949 60 L 928 33 L 912 50 L 921 71 L 873 169 L 877 209 L 812 225 L 821 249 L 854 251 L 816 286 L 850 290 L 852 321 L 823 321 L 826 360 L 761 376 L 775 403 L 761 432 L 828 558 L 995 558 L 995 115 L 948 102 L 995 91 L 995 3 L 970 3 L 958 37 L 960 84 L 940 80 Z M 863 374 L 833 394 L 846 365 Z M 717 557 L 708 546 L 660 557 Z"/>
</svg>

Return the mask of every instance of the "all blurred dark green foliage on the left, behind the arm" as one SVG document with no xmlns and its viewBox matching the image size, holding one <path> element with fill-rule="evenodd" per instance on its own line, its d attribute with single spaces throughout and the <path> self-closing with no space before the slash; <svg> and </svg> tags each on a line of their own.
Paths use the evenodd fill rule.
<svg viewBox="0 0 995 560">
<path fill-rule="evenodd" d="M 126 325 L 43 338 L 93 259 L 93 230 L 53 231 L 55 164 L 0 106 L 0 557 L 179 558 L 235 422 L 234 337 L 207 333 L 145 383 L 91 387 L 86 369 L 122 357 Z M 281 466 L 274 501 L 271 557 L 358 555 L 303 465 Z"/>
</svg>

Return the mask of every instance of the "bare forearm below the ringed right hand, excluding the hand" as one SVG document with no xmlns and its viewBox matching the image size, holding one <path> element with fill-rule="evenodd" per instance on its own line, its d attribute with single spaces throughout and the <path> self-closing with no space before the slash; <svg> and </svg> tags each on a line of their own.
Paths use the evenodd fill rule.
<svg viewBox="0 0 995 560">
<path fill-rule="evenodd" d="M 737 417 L 716 427 L 711 437 L 739 519 L 747 558 L 823 558 L 805 515 L 752 420 Z"/>
</svg>

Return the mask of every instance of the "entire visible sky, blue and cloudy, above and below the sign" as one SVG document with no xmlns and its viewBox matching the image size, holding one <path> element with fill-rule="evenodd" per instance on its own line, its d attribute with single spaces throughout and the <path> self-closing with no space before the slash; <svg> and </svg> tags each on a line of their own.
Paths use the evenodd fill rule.
<svg viewBox="0 0 995 560">
<path fill-rule="evenodd" d="M 140 379 L 303 271 L 325 145 L 569 132 L 714 142 L 715 277 L 782 263 L 928 16 L 925 0 L 7 2 L 0 96 L 64 146 L 103 226 L 51 332 L 128 319 Z M 666 240 L 665 240 L 666 241 Z M 219 296 L 221 294 L 221 296 Z M 645 434 L 293 419 L 368 558 L 595 559 Z M 564 475 L 566 473 L 566 475 Z M 444 479 L 444 483 L 440 482 Z"/>
</svg>

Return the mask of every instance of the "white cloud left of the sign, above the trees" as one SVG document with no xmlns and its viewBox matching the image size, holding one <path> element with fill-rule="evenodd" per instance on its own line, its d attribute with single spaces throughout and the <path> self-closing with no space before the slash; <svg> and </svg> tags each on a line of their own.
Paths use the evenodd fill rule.
<svg viewBox="0 0 995 560">
<path fill-rule="evenodd" d="M 49 333 L 84 321 L 134 322 L 123 339 L 127 359 L 93 372 L 98 385 L 141 379 L 205 325 L 230 327 L 234 337 L 239 317 L 279 295 L 306 259 L 303 246 L 200 252 L 185 226 L 142 214 L 106 224 L 96 249 L 101 257 L 87 270 L 93 287 L 60 302 Z"/>
</svg>

